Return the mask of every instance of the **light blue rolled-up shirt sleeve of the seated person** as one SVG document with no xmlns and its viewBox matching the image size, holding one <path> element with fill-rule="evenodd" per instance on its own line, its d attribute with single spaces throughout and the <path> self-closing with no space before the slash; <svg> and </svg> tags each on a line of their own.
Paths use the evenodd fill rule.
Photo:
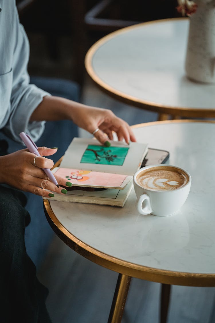
<svg viewBox="0 0 215 323">
<path fill-rule="evenodd" d="M 34 141 L 42 135 L 45 121 L 30 122 L 30 117 L 36 107 L 49 93 L 29 84 L 27 65 L 29 60 L 29 42 L 23 26 L 19 23 L 15 10 L 15 42 L 13 53 L 13 82 L 11 92 L 11 114 L 4 131 L 15 141 L 22 142 L 19 133 L 27 132 Z"/>
</svg>

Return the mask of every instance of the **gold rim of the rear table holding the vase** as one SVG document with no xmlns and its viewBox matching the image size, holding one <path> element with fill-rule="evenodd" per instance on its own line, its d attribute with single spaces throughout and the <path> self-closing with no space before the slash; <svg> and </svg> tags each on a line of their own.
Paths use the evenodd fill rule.
<svg viewBox="0 0 215 323">
<path fill-rule="evenodd" d="M 167 19 L 159 19 L 159 20 L 153 20 L 153 21 L 147 21 L 143 23 L 139 23 L 136 25 L 128 26 L 121 28 L 119 30 L 116 30 L 101 39 L 99 39 L 97 42 L 95 42 L 90 49 L 87 51 L 85 55 L 84 65 L 86 68 L 87 73 L 89 74 L 90 78 L 93 80 L 93 82 L 105 93 L 109 94 L 111 97 L 118 99 L 124 103 L 134 105 L 141 109 L 146 109 L 150 111 L 155 111 L 159 113 L 166 113 L 166 114 L 172 114 L 172 115 L 180 115 L 182 117 L 197 117 L 197 118 L 214 118 L 215 117 L 215 107 L 214 109 L 195 109 L 190 107 L 172 107 L 165 104 L 160 104 L 153 101 L 148 101 L 144 99 L 138 99 L 134 96 L 128 95 L 126 93 L 123 93 L 117 89 L 114 89 L 112 86 L 105 83 L 94 71 L 92 59 L 93 55 L 96 52 L 96 50 L 101 47 L 104 43 L 106 43 L 108 40 L 112 39 L 114 36 L 123 34 L 127 31 L 130 31 L 132 29 L 139 28 L 140 26 L 147 26 L 151 24 L 156 23 L 165 23 L 167 21 L 181 21 L 181 20 L 188 20 L 189 18 L 167 18 Z"/>
</svg>

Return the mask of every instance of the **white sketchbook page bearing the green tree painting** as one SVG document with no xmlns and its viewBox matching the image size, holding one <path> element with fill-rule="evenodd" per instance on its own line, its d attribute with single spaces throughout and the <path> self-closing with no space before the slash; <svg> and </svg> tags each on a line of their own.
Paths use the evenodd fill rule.
<svg viewBox="0 0 215 323">
<path fill-rule="evenodd" d="M 61 167 L 86 171 L 133 175 L 141 166 L 148 144 L 110 141 L 104 147 L 95 139 L 74 138 L 65 152 Z"/>
</svg>

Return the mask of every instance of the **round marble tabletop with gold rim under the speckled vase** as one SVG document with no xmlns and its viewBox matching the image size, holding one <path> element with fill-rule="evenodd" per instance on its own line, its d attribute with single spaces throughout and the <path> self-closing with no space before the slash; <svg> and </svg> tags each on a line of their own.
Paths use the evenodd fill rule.
<svg viewBox="0 0 215 323">
<path fill-rule="evenodd" d="M 130 105 L 185 117 L 215 117 L 215 85 L 189 80 L 185 55 L 189 18 L 122 28 L 96 42 L 85 67 L 109 95 Z"/>
</svg>

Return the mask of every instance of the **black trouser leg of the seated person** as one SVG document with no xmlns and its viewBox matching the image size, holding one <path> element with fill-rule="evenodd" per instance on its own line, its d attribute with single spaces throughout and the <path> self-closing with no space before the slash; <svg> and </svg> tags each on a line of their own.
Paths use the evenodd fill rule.
<svg viewBox="0 0 215 323">
<path fill-rule="evenodd" d="M 30 222 L 25 195 L 0 185 L 0 322 L 49 323 L 48 290 L 36 277 L 26 253 L 25 226 Z"/>
</svg>

